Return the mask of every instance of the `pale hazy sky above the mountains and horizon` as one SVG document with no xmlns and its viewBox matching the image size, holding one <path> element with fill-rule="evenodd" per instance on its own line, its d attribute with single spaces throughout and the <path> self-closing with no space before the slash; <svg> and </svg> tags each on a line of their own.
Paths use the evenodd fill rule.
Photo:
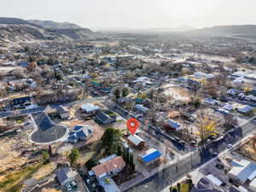
<svg viewBox="0 0 256 192">
<path fill-rule="evenodd" d="M 256 0 L 1 0 L 0 16 L 93 29 L 256 24 Z"/>
</svg>

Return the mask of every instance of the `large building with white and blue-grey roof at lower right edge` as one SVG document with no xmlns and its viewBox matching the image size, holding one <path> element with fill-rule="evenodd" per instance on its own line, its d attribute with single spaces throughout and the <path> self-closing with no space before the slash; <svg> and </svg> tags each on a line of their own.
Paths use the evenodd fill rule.
<svg viewBox="0 0 256 192">
<path fill-rule="evenodd" d="M 256 164 L 248 160 L 233 160 L 231 163 L 232 169 L 228 172 L 230 178 L 238 183 L 246 183 L 253 181 L 256 177 Z"/>
</svg>

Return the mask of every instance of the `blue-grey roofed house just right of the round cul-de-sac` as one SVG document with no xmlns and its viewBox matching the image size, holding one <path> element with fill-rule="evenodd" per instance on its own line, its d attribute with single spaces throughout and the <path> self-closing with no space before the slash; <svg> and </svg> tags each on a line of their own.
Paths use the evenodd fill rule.
<svg viewBox="0 0 256 192">
<path fill-rule="evenodd" d="M 78 143 L 86 141 L 93 134 L 93 130 L 88 125 L 75 125 L 73 131 L 70 131 L 67 137 L 67 142 Z"/>
</svg>

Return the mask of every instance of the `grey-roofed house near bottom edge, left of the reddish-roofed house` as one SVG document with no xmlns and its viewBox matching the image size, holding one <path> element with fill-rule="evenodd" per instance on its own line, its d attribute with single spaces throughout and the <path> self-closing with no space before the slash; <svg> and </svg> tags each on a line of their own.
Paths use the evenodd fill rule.
<svg viewBox="0 0 256 192">
<path fill-rule="evenodd" d="M 67 183 L 71 183 L 76 180 L 76 172 L 73 172 L 70 167 L 64 167 L 56 172 L 56 177 L 59 183 L 61 183 L 61 186 L 65 186 Z"/>
</svg>

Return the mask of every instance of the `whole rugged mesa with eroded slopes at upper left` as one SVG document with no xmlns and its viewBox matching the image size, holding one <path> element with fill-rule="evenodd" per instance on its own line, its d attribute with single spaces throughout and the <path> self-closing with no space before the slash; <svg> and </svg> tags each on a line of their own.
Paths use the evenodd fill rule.
<svg viewBox="0 0 256 192">
<path fill-rule="evenodd" d="M 67 22 L 32 22 L 18 18 L 0 17 L 0 46 L 1 44 L 33 40 L 84 40 L 92 37 L 93 34 L 88 28 Z"/>
</svg>

